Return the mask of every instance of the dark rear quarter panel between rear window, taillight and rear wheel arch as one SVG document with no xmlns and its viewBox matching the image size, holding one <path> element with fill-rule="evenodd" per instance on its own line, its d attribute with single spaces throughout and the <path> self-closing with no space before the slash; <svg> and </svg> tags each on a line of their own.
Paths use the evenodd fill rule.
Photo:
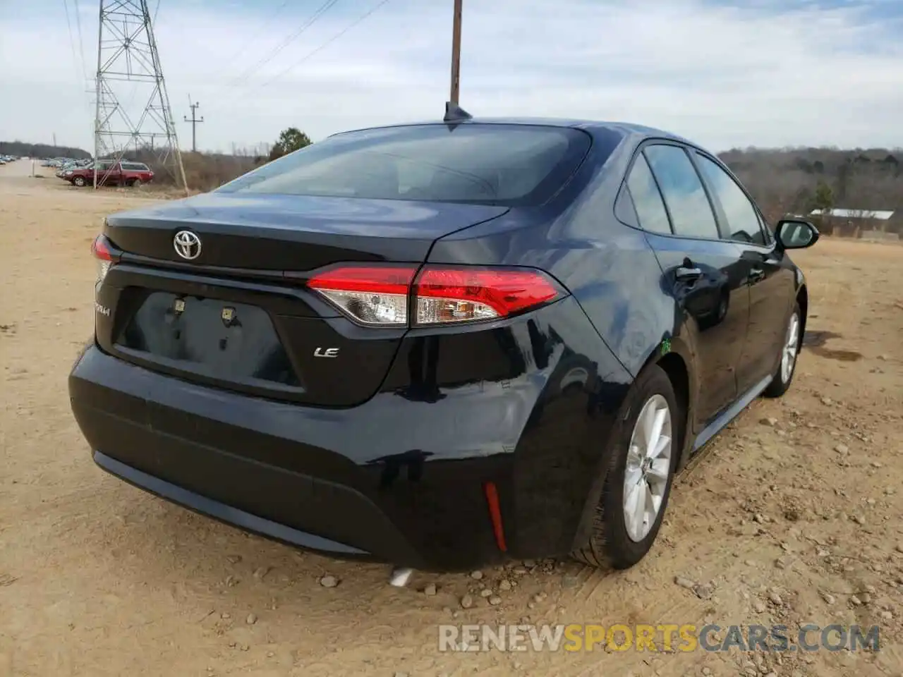
<svg viewBox="0 0 903 677">
<path fill-rule="evenodd" d="M 645 234 L 621 224 L 614 200 L 642 134 L 595 132 L 581 168 L 547 205 L 445 236 L 430 262 L 530 265 L 553 274 L 579 301 L 600 337 L 636 376 L 662 348 L 690 359 L 683 322 L 663 286 Z"/>
</svg>

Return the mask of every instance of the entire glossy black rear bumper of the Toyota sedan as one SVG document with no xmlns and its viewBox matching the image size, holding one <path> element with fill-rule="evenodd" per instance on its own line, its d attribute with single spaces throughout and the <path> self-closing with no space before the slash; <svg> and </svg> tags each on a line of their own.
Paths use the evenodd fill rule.
<svg viewBox="0 0 903 677">
<path fill-rule="evenodd" d="M 285 543 L 423 570 L 559 555 L 591 524 L 628 387 L 604 344 L 593 360 L 566 348 L 575 303 L 489 331 L 412 332 L 381 392 L 348 409 L 193 384 L 92 344 L 70 374 L 72 411 L 101 468 Z M 556 323 L 563 314 L 570 324 Z M 433 383 L 412 383 L 424 341 L 459 367 L 439 358 Z M 461 355 L 477 342 L 485 353 L 487 341 L 513 360 L 509 376 L 462 383 Z M 498 490 L 504 550 L 487 483 Z"/>
</svg>

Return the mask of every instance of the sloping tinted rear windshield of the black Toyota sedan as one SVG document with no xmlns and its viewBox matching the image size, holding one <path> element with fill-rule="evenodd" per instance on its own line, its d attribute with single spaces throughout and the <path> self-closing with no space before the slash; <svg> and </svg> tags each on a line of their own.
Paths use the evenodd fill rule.
<svg viewBox="0 0 903 677">
<path fill-rule="evenodd" d="M 577 129 L 411 125 L 330 136 L 265 164 L 219 192 L 540 204 L 590 147 Z"/>
</svg>

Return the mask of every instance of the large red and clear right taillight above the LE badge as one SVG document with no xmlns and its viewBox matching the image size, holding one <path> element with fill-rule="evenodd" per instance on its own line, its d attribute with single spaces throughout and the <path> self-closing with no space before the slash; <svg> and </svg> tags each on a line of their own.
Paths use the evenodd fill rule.
<svg viewBox="0 0 903 677">
<path fill-rule="evenodd" d="M 561 291 L 527 268 L 339 266 L 308 286 L 362 324 L 399 327 L 497 320 L 554 301 Z M 413 311 L 409 319 L 408 306 Z"/>
</svg>

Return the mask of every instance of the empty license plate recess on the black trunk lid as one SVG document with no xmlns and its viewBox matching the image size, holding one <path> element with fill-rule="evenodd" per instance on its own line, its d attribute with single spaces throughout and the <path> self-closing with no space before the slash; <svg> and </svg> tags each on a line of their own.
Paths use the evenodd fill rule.
<svg viewBox="0 0 903 677">
<path fill-rule="evenodd" d="M 269 315 L 247 303 L 151 292 L 116 346 L 201 376 L 300 385 Z"/>
</svg>

